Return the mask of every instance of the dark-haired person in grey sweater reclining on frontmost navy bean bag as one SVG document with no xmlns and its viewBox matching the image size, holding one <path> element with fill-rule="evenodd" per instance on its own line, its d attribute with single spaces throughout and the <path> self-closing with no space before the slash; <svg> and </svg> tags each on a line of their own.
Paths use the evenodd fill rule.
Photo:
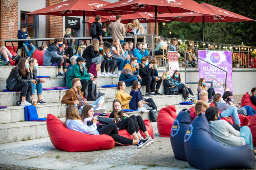
<svg viewBox="0 0 256 170">
<path fill-rule="evenodd" d="M 248 126 L 243 126 L 239 132 L 227 121 L 218 120 L 219 111 L 216 107 L 206 109 L 205 116 L 215 140 L 227 146 L 250 145 L 250 148 L 253 148 L 252 133 Z"/>
</svg>

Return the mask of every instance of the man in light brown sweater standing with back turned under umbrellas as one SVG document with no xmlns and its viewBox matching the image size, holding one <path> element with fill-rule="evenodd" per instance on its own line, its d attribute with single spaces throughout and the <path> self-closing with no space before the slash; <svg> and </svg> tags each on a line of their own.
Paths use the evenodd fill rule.
<svg viewBox="0 0 256 170">
<path fill-rule="evenodd" d="M 121 21 L 121 15 L 116 16 L 116 22 L 111 24 L 111 33 L 112 33 L 112 39 L 115 38 L 120 40 L 120 44 L 122 45 L 124 43 L 124 36 L 125 36 L 125 28 L 124 24 L 120 23 Z"/>
</svg>

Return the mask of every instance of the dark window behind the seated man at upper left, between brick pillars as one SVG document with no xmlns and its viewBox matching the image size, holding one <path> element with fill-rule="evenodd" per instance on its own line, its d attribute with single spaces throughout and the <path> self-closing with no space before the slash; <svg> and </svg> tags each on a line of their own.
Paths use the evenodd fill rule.
<svg viewBox="0 0 256 170">
<path fill-rule="evenodd" d="M 27 26 L 27 32 L 31 38 L 36 38 L 36 17 L 35 15 L 25 15 L 29 12 L 20 11 L 20 29 L 22 25 Z"/>
</svg>

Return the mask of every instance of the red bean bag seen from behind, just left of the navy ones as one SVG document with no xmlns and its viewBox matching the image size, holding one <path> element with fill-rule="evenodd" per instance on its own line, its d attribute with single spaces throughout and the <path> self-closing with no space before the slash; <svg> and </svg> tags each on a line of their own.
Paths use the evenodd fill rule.
<svg viewBox="0 0 256 170">
<path fill-rule="evenodd" d="M 170 137 L 173 122 L 176 117 L 176 107 L 173 105 L 164 107 L 159 111 L 156 123 L 161 137 Z"/>
</svg>

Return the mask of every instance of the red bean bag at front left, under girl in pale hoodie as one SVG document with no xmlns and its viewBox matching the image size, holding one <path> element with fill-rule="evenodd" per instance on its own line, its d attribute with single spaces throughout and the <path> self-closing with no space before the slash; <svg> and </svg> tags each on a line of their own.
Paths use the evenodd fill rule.
<svg viewBox="0 0 256 170">
<path fill-rule="evenodd" d="M 111 149 L 115 141 L 108 135 L 89 135 L 65 127 L 63 122 L 52 114 L 46 120 L 47 130 L 55 148 L 67 152 L 86 152 Z"/>
</svg>

